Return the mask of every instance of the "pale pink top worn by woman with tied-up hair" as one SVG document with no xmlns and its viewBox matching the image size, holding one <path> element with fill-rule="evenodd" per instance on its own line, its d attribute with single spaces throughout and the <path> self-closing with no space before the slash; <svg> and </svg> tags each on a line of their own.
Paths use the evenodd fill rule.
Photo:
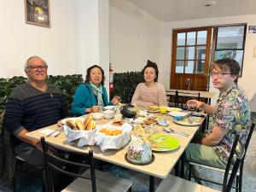
<svg viewBox="0 0 256 192">
<path fill-rule="evenodd" d="M 141 107 L 167 106 L 166 90 L 162 84 L 157 82 L 152 87 L 147 87 L 145 83 L 140 83 L 132 96 L 131 103 Z"/>
</svg>

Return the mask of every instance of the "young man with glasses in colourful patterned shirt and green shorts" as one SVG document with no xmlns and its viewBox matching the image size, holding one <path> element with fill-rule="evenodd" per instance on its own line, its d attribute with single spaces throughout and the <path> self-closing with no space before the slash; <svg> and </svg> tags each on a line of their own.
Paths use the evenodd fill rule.
<svg viewBox="0 0 256 192">
<path fill-rule="evenodd" d="M 245 143 L 250 124 L 250 108 L 247 96 L 237 86 L 240 74 L 237 61 L 214 61 L 210 74 L 213 86 L 220 90 L 217 105 L 214 107 L 196 100 L 189 100 L 187 105 L 212 114 L 212 131 L 207 136 L 196 135 L 185 153 L 188 161 L 225 168 L 235 131 L 241 134 L 241 142 Z"/>
</svg>

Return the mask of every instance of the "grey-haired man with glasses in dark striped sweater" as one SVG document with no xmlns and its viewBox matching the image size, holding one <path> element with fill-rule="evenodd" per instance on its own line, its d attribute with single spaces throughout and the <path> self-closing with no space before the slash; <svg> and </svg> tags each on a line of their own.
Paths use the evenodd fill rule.
<svg viewBox="0 0 256 192">
<path fill-rule="evenodd" d="M 6 129 L 15 136 L 15 153 L 39 168 L 44 165 L 40 140 L 26 137 L 26 133 L 54 125 L 68 115 L 61 91 L 46 83 L 47 68 L 47 63 L 38 56 L 27 59 L 27 83 L 20 84 L 9 96 L 3 120 Z"/>
</svg>

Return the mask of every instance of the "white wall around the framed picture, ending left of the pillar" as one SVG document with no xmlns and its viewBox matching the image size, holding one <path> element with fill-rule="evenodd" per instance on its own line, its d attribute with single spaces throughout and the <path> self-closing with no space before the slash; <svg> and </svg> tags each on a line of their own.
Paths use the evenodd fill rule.
<svg viewBox="0 0 256 192">
<path fill-rule="evenodd" d="M 74 15 L 72 0 L 50 3 L 51 27 L 26 24 L 24 1 L 1 1 L 1 78 L 25 75 L 23 67 L 31 55 L 49 64 L 49 74 L 75 73 Z"/>
</svg>

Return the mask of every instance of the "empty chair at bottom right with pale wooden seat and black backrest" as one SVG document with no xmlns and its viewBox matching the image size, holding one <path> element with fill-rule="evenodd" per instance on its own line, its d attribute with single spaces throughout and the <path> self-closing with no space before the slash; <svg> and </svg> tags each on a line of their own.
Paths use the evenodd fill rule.
<svg viewBox="0 0 256 192">
<path fill-rule="evenodd" d="M 241 153 L 238 155 L 234 155 L 236 151 L 236 145 L 239 140 L 239 135 L 236 135 L 235 141 L 233 143 L 231 152 L 230 152 L 230 159 L 228 160 L 228 164 L 225 169 L 225 177 L 224 177 L 224 184 L 223 184 L 223 192 L 230 192 L 232 188 L 232 184 L 234 183 L 234 180 L 236 178 L 236 172 L 239 169 L 239 166 L 241 165 L 241 160 L 244 157 L 245 149 L 241 148 Z M 235 163 L 232 166 L 232 171 L 230 173 L 231 164 L 235 160 Z M 162 183 L 160 183 L 160 186 L 158 189 L 156 189 L 156 192 L 174 192 L 174 191 L 186 191 L 186 192 L 203 192 L 203 191 L 217 191 L 214 189 L 207 188 L 205 186 L 202 186 L 197 183 L 192 183 L 187 180 L 184 180 L 183 178 L 175 177 L 172 175 L 169 175 L 166 177 Z"/>
</svg>

